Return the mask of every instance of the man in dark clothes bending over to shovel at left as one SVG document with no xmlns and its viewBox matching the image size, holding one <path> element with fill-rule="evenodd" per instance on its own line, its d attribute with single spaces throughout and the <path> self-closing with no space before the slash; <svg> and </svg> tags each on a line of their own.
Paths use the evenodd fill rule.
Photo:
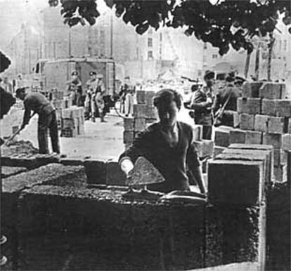
<svg viewBox="0 0 291 271">
<path fill-rule="evenodd" d="M 60 153 L 58 139 L 58 123 L 56 119 L 56 110 L 46 97 L 39 92 L 27 93 L 25 88 L 16 90 L 16 98 L 23 100 L 25 113 L 21 125 L 21 130 L 30 122 L 31 112 L 39 115 L 37 138 L 39 141 L 39 153 L 48 154 L 48 130 L 51 136 L 51 145 L 53 152 Z"/>
</svg>

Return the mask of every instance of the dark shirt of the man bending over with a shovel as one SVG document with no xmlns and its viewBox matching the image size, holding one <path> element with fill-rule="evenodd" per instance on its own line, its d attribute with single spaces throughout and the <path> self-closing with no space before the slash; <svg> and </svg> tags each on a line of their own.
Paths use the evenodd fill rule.
<svg viewBox="0 0 291 271">
<path fill-rule="evenodd" d="M 27 93 L 23 100 L 23 104 L 25 107 L 23 124 L 28 124 L 30 122 L 31 111 L 34 111 L 39 115 L 48 115 L 55 110 L 46 97 L 38 92 Z"/>
</svg>

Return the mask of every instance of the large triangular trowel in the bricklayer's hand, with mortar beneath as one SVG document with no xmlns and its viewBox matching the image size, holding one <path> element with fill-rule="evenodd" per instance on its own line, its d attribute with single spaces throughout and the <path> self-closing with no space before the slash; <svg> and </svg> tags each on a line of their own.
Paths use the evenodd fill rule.
<svg viewBox="0 0 291 271">
<path fill-rule="evenodd" d="M 129 186 L 129 192 L 124 194 L 123 197 L 125 199 L 137 201 L 157 201 L 164 193 L 150 191 L 146 185 L 163 183 L 164 181 L 165 179 L 160 171 L 158 171 L 148 159 L 145 159 L 145 157 L 138 157 L 134 164 L 134 168 L 129 172 L 129 177 L 127 178 L 126 184 Z M 136 190 L 134 187 L 142 188 Z"/>
</svg>

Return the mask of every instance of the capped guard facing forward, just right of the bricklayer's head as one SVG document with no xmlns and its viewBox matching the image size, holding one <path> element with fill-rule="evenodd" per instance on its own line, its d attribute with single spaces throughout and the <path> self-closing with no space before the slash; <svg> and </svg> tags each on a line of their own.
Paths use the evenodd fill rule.
<svg viewBox="0 0 291 271">
<path fill-rule="evenodd" d="M 200 124 L 202 128 L 202 138 L 211 140 L 213 114 L 212 105 L 214 101 L 214 72 L 207 70 L 204 75 L 205 85 L 195 91 L 190 108 L 195 110 L 195 124 Z"/>
</svg>

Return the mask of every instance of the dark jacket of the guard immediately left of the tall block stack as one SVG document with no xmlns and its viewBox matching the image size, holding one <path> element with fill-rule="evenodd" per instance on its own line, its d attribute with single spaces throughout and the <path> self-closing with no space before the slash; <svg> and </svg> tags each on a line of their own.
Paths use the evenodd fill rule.
<svg viewBox="0 0 291 271">
<path fill-rule="evenodd" d="M 213 106 L 214 112 L 219 110 L 220 107 L 224 106 L 229 95 L 231 95 L 231 97 L 229 98 L 228 103 L 226 104 L 225 110 L 233 111 L 237 110 L 236 102 L 238 98 L 241 96 L 241 91 L 233 84 L 227 84 L 226 86 L 219 88 L 216 94 Z"/>
</svg>

